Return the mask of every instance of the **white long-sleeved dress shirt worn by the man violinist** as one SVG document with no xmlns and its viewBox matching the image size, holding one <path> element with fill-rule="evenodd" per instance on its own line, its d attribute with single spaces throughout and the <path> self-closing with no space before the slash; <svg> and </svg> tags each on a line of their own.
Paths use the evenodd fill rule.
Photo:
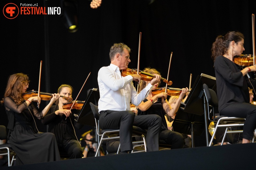
<svg viewBox="0 0 256 170">
<path fill-rule="evenodd" d="M 138 106 L 148 95 L 153 86 L 148 85 L 137 94 L 133 85 L 133 77 L 121 76 L 119 67 L 110 64 L 101 67 L 98 72 L 98 85 L 100 99 L 98 102 L 99 112 L 102 110 L 124 111 L 131 110 L 130 102 Z"/>
</svg>

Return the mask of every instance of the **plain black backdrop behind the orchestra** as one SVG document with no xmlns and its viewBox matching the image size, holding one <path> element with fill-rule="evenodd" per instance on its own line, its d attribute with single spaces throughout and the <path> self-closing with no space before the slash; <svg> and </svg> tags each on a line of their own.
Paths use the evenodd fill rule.
<svg viewBox="0 0 256 170">
<path fill-rule="evenodd" d="M 140 69 L 152 67 L 167 78 L 170 55 L 173 52 L 170 87 L 192 85 L 201 73 L 215 76 L 211 60 L 211 44 L 218 35 L 240 31 L 245 35 L 244 54 L 252 54 L 252 0 L 102 0 L 98 9 L 91 9 L 88 0 L 77 0 L 77 32 L 70 33 L 58 15 L 18 15 L 7 19 L 1 14 L 1 85 L 3 97 L 8 76 L 25 73 L 30 78 L 28 90 L 38 90 L 42 60 L 41 91 L 56 93 L 61 84 L 70 84 L 76 98 L 88 76 L 78 100 L 85 100 L 87 90 L 98 88 L 97 73 L 108 66 L 109 49 L 123 42 L 131 49 L 129 68 L 137 68 L 139 33 L 142 32 Z M 60 0 L 5 0 L 7 3 L 34 4 L 38 7 L 60 7 Z M 165 86 L 162 83 L 162 86 Z M 41 107 L 47 104 L 42 101 Z M 0 124 L 7 125 L 1 106 Z M 92 120 L 94 121 L 94 120 Z M 38 126 L 41 131 L 46 127 Z M 78 136 L 92 127 L 78 131 Z M 79 136 L 80 137 L 80 136 Z"/>
</svg>

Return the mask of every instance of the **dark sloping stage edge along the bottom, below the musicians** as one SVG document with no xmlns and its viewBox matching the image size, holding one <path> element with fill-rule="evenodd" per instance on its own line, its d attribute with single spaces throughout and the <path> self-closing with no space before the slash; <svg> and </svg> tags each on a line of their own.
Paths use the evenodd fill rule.
<svg viewBox="0 0 256 170">
<path fill-rule="evenodd" d="M 255 169 L 256 143 L 195 147 L 4 167 L 6 170 Z"/>
</svg>

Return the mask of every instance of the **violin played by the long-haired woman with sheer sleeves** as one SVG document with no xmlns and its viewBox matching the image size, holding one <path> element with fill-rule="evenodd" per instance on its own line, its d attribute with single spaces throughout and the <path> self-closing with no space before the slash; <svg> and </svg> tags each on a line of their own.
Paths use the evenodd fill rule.
<svg viewBox="0 0 256 170">
<path fill-rule="evenodd" d="M 38 96 L 38 91 L 28 91 L 22 94 L 22 97 L 24 100 L 27 100 L 30 97 L 35 97 L 35 96 Z M 53 95 L 51 93 L 39 92 L 39 97 L 41 97 L 41 100 L 51 100 L 53 98 Z M 60 97 L 67 100 L 68 102 L 72 101 L 72 97 L 71 98 L 67 98 L 66 96 L 60 96 Z"/>
</svg>

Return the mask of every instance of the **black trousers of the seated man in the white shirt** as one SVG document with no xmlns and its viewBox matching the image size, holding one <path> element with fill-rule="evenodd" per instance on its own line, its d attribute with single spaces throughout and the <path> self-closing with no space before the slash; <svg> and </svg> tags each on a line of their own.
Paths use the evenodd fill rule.
<svg viewBox="0 0 256 170">
<path fill-rule="evenodd" d="M 120 129 L 120 148 L 122 151 L 133 150 L 133 126 L 148 129 L 146 136 L 147 151 L 159 150 L 159 132 L 162 119 L 158 115 L 135 116 L 132 111 L 106 110 L 100 112 L 101 129 Z"/>
</svg>

